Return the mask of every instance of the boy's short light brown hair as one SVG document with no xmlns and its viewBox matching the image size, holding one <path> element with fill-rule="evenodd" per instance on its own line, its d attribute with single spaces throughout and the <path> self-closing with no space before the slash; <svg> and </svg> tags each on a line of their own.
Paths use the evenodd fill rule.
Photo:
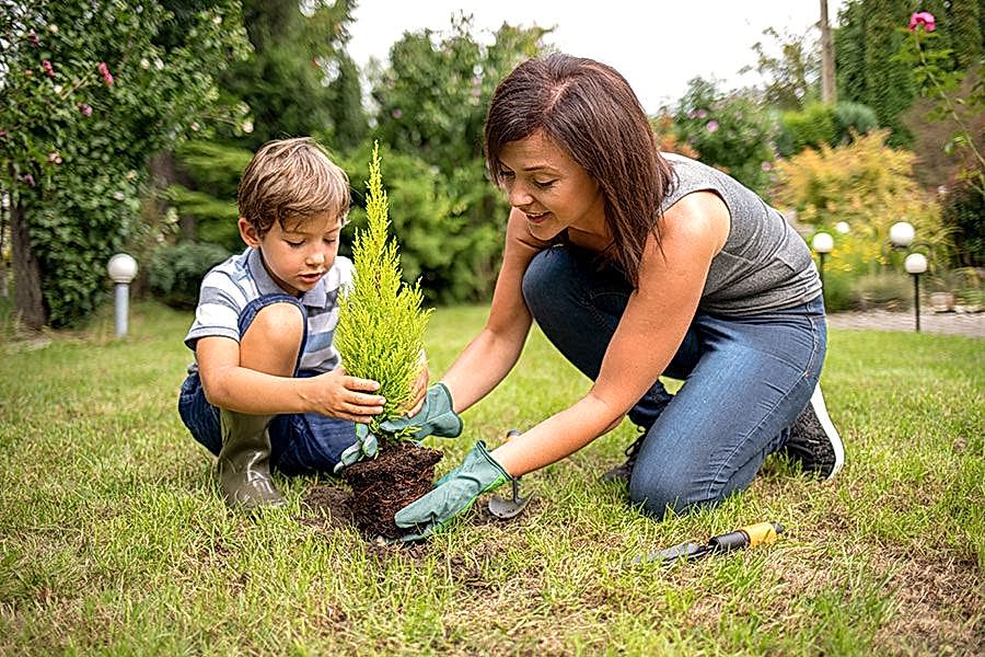
<svg viewBox="0 0 985 657">
<path fill-rule="evenodd" d="M 329 212 L 345 223 L 349 211 L 349 177 L 310 137 L 279 139 L 260 148 L 240 180 L 240 217 L 259 237 L 277 221 Z"/>
</svg>

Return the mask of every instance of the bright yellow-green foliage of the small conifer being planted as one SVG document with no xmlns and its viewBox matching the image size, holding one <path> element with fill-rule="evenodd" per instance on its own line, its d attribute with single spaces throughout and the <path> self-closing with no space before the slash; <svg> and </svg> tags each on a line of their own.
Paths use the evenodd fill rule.
<svg viewBox="0 0 985 657">
<path fill-rule="evenodd" d="M 419 281 L 410 286 L 401 280 L 378 148 L 373 148 L 367 187 L 368 224 L 352 243 L 356 276 L 339 299 L 335 339 L 349 374 L 380 382 L 386 404 L 371 425 L 376 429 L 383 419 L 398 416 L 410 401 L 431 310 L 420 308 Z"/>
</svg>

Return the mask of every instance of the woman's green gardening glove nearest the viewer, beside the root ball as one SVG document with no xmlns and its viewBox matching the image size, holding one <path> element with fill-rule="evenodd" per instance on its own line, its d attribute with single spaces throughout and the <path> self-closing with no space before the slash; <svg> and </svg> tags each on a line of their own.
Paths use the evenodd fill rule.
<svg viewBox="0 0 985 657">
<path fill-rule="evenodd" d="M 430 535 L 467 511 L 479 495 L 508 481 L 509 473 L 489 454 L 486 443 L 479 440 L 462 464 L 445 475 L 430 493 L 394 515 L 397 527 L 417 529 L 417 533 L 401 540 L 415 541 Z"/>
</svg>

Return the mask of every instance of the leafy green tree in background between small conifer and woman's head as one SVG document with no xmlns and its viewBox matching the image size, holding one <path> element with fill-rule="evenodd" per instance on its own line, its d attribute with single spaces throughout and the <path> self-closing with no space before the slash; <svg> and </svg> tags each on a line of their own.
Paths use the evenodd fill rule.
<svg viewBox="0 0 985 657">
<path fill-rule="evenodd" d="M 508 206 L 485 174 L 486 108 L 499 81 L 545 49 L 548 32 L 503 24 L 483 45 L 471 18 L 460 15 L 447 34 L 406 33 L 391 48 L 390 66 L 372 78 L 373 137 L 404 155 L 385 155 L 402 264 L 421 277 L 433 301 L 491 295 Z M 361 147 L 351 171 L 360 170 L 368 152 Z M 441 207 L 447 212 L 425 218 Z M 412 228 L 404 222 L 410 216 L 422 223 Z"/>
</svg>

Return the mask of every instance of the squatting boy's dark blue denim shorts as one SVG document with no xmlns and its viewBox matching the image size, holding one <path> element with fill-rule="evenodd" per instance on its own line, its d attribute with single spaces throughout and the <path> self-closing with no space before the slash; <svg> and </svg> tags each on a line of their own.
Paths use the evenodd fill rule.
<svg viewBox="0 0 985 657">
<path fill-rule="evenodd" d="M 256 319 L 257 312 L 271 303 L 293 303 L 306 318 L 304 306 L 289 295 L 267 295 L 250 302 L 240 315 L 240 335 Z M 308 341 L 305 321 L 304 342 Z M 317 372 L 298 370 L 296 377 L 313 377 Z M 219 426 L 219 408 L 209 404 L 198 372 L 188 374 L 178 395 L 178 413 L 192 436 L 210 452 L 219 456 L 222 449 L 222 431 Z M 356 425 L 350 420 L 318 415 L 317 413 L 277 415 L 270 422 L 270 464 L 283 474 L 332 474 L 343 450 L 356 441 Z"/>
</svg>

